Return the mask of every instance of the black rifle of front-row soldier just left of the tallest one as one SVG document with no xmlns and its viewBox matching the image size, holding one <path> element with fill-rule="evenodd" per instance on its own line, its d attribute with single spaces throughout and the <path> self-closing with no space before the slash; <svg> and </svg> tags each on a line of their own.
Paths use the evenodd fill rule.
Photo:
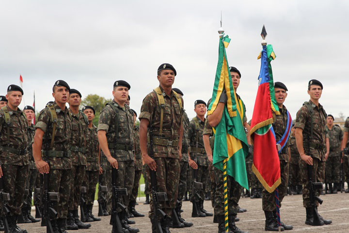
<svg viewBox="0 0 349 233">
<path fill-rule="evenodd" d="M 119 198 L 122 196 L 127 196 L 126 188 L 117 188 L 117 179 L 118 179 L 118 170 L 114 167 L 111 168 L 111 190 L 112 190 L 112 210 L 111 210 L 111 223 L 113 228 L 117 233 L 123 232 L 123 227 L 119 218 L 118 208 L 121 209 L 121 212 L 126 211 L 126 206 L 119 202 Z"/>
</svg>

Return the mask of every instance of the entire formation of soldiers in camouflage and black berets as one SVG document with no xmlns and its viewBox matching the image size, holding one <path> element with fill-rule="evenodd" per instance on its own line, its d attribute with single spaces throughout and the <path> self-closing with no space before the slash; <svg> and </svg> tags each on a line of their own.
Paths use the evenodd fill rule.
<svg viewBox="0 0 349 233">
<path fill-rule="evenodd" d="M 229 69 L 237 92 L 241 73 L 236 67 Z M 153 233 L 169 233 L 170 228 L 193 225 L 181 216 L 182 201 L 187 198 L 187 192 L 192 203 L 191 216 L 214 215 L 213 221 L 218 223 L 219 233 L 225 232 L 223 173 L 212 165 L 215 139 L 212 127 L 221 121 L 227 94 L 222 92 L 217 108 L 207 117 L 210 100 L 207 104 L 204 100 L 196 100 L 193 104 L 196 116 L 189 120 L 184 109 L 183 92 L 172 87 L 176 70 L 165 63 L 159 66 L 157 72 L 159 87 L 144 98 L 139 127 L 135 125 L 137 113 L 129 107 L 131 86 L 123 80 L 114 82 L 113 100 L 101 111 L 97 127 L 93 124 L 95 109 L 92 106 L 81 108 L 81 93 L 63 80 L 54 83 L 54 101 L 48 102 L 46 108 L 40 111 L 35 125 L 32 124 L 34 109 L 31 106 L 26 106 L 23 111 L 18 108 L 23 96 L 22 88 L 14 84 L 8 86 L 6 96 L 0 96 L 0 191 L 9 194 L 9 198 L 2 198 L 0 203 L 2 219 L 6 219 L 4 223 L 1 221 L 2 230 L 5 224 L 9 233 L 26 233 L 16 224 L 40 221 L 36 219 L 40 216 L 31 216 L 32 192 L 43 195 L 44 186 L 49 193 L 57 193 L 58 201 L 51 201 L 50 205 L 56 215 L 45 218 L 46 223 L 42 221 L 42 225 L 47 225 L 49 221 L 54 233 L 88 229 L 91 227 L 88 222 L 101 220 L 92 214 L 98 183 L 98 215 L 111 215 L 111 232 L 137 233 L 139 230 L 130 226 L 135 221 L 129 218 L 144 216 L 135 209 L 143 172 L 144 204 L 150 203 L 148 216 Z M 341 190 L 343 186 L 340 183 L 343 182 L 338 172 L 341 165 L 345 173 L 343 177 L 346 177 L 347 183 L 349 181 L 346 152 L 349 118 L 344 133 L 333 125 L 334 117 L 327 115 L 319 104 L 322 88 L 319 81 L 309 81 L 310 100 L 304 102 L 298 111 L 291 136 L 279 151 L 280 207 L 288 186 L 293 194 L 302 193 L 305 224 L 308 225 L 332 222 L 321 216 L 319 222 L 314 220 L 309 182 L 325 182 L 329 185 L 328 193 Z M 280 110 L 280 115 L 273 115 L 273 129 L 278 141 L 286 131 L 287 109 L 284 102 L 288 90 L 280 82 L 275 82 L 274 90 Z M 240 100 L 238 94 L 237 98 Z M 251 172 L 253 139 L 250 138 L 246 113 L 243 113 L 243 125 L 250 149 L 246 155 L 246 166 L 251 193 L 247 190 L 246 196 L 262 198 L 265 230 L 278 231 L 274 194 L 263 189 Z M 311 177 L 308 169 L 311 169 Z M 239 220 L 237 213 L 246 211 L 238 205 L 243 189 L 230 176 L 227 184 L 229 232 L 244 233 L 236 226 Z M 316 190 L 317 196 L 320 191 Z M 204 209 L 207 196 L 211 199 L 214 213 Z M 41 202 L 43 200 L 44 197 L 41 197 Z M 82 204 L 81 200 L 84 200 Z M 35 200 L 34 204 L 37 205 L 36 214 L 43 211 L 42 205 Z M 4 206 L 8 212 L 4 211 Z M 280 224 L 281 231 L 293 229 L 291 225 Z"/>
</svg>

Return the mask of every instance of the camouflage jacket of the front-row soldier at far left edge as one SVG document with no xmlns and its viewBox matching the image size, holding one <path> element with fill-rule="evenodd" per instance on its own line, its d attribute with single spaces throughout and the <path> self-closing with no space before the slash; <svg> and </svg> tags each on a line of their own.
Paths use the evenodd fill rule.
<svg viewBox="0 0 349 233">
<path fill-rule="evenodd" d="M 5 120 L 4 108 L 7 107 L 10 124 Z M 9 134 L 7 132 L 9 127 Z M 28 122 L 18 108 L 12 111 L 8 105 L 0 109 L 0 162 L 9 165 L 28 165 Z"/>
</svg>

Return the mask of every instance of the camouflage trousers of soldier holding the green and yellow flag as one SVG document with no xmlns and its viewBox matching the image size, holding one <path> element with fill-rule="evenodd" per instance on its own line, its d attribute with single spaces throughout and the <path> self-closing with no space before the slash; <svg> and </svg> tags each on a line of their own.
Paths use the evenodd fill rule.
<svg viewBox="0 0 349 233">
<path fill-rule="evenodd" d="M 224 184 L 223 172 L 218 168 L 213 170 L 216 182 L 216 192 L 214 195 L 214 213 L 216 215 L 224 215 Z M 234 180 L 233 177 L 227 176 L 227 192 L 228 192 L 228 213 L 229 215 L 237 215 L 238 201 L 240 200 L 242 187 Z"/>
</svg>

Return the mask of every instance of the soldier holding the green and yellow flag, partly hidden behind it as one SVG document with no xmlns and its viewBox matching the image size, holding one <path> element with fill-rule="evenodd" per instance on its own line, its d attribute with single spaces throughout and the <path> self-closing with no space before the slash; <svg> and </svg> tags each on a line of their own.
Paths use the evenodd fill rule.
<svg viewBox="0 0 349 233">
<path fill-rule="evenodd" d="M 240 71 L 236 67 L 229 67 L 230 75 L 233 81 L 233 86 L 236 90 L 238 89 L 238 86 L 240 84 Z M 236 94 L 237 98 L 240 99 L 240 96 Z M 208 124 L 212 127 L 216 127 L 219 122 L 222 119 L 222 112 L 224 105 L 227 102 L 227 95 L 225 90 L 223 90 L 219 103 L 217 105 L 217 108 L 215 111 L 207 116 Z M 243 114 L 243 125 L 247 129 L 247 142 L 250 145 L 250 126 L 247 124 L 247 117 L 246 117 L 246 108 L 245 113 Z M 213 158 L 208 158 L 208 160 L 212 163 Z M 223 191 L 223 172 L 219 170 L 218 168 L 214 167 L 214 175 L 215 175 L 215 182 L 216 182 L 216 192 L 215 192 L 215 200 L 214 200 L 214 211 L 217 215 L 218 220 L 218 232 L 224 233 L 225 232 L 225 219 L 224 219 L 224 191 Z M 228 224 L 229 224 L 229 230 L 234 233 L 245 233 L 241 231 L 236 225 L 235 222 L 238 221 L 237 218 L 237 212 L 238 212 L 238 200 L 240 199 L 241 195 L 241 189 L 242 187 L 235 181 L 235 179 L 231 176 L 227 176 L 228 182 L 227 182 L 227 191 L 228 191 Z"/>
</svg>

